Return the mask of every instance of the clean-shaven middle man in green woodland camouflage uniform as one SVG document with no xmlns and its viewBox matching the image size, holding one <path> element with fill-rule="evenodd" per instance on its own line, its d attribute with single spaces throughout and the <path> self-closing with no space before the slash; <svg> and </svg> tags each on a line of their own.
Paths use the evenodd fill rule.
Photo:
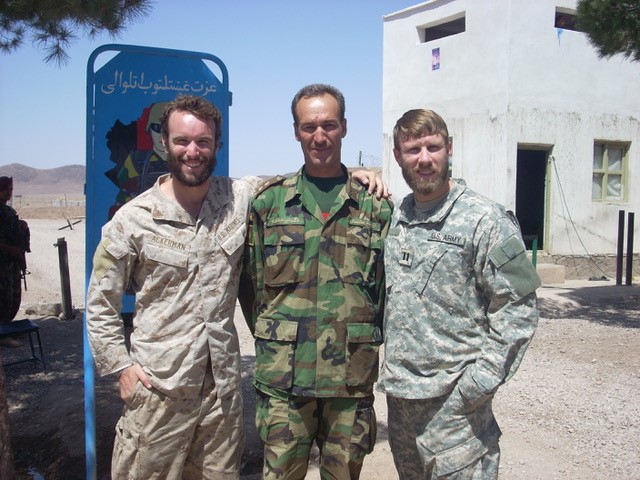
<svg viewBox="0 0 640 480">
<path fill-rule="evenodd" d="M 303 479 L 315 440 L 323 479 L 355 479 L 376 436 L 391 205 L 341 163 L 347 121 L 337 89 L 307 86 L 291 110 L 304 166 L 253 201 L 240 290 L 255 336 L 263 474 Z"/>
</svg>

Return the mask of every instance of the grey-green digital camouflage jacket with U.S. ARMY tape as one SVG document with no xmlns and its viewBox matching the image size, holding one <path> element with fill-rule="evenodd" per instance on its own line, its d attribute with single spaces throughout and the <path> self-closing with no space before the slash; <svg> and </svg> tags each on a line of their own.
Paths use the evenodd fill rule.
<svg viewBox="0 0 640 480">
<path fill-rule="evenodd" d="M 538 323 L 540 279 L 512 214 L 455 184 L 416 217 L 413 194 L 385 242 L 385 360 L 379 387 L 408 399 L 456 385 L 472 405 L 516 371 Z"/>
</svg>

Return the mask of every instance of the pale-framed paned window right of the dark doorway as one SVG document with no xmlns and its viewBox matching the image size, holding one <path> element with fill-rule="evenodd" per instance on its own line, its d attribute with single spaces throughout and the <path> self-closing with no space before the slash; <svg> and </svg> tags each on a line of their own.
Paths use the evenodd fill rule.
<svg viewBox="0 0 640 480">
<path fill-rule="evenodd" d="M 593 145 L 593 200 L 627 199 L 628 143 L 595 142 Z"/>
</svg>

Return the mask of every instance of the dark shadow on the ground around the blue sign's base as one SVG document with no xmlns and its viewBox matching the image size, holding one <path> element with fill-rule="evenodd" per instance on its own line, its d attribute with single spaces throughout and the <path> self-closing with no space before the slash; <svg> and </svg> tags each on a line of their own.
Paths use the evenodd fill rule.
<svg viewBox="0 0 640 480">
<path fill-rule="evenodd" d="M 5 367 L 11 445 L 20 479 L 83 480 L 85 461 L 82 315 L 32 318 L 40 326 L 47 372 L 31 361 Z M 35 337 L 34 337 L 35 338 Z M 28 338 L 1 348 L 2 363 L 31 357 Z M 261 478 L 262 449 L 254 426 L 253 357 L 242 358 L 247 444 L 242 479 Z M 111 478 L 114 428 L 122 410 L 117 380 L 95 378 L 96 477 Z"/>
</svg>

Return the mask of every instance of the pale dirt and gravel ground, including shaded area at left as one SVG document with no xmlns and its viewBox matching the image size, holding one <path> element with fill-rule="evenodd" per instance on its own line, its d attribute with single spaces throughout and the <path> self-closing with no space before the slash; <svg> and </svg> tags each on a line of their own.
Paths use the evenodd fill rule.
<svg viewBox="0 0 640 480">
<path fill-rule="evenodd" d="M 29 220 L 25 212 L 21 215 Z M 86 478 L 83 332 L 85 222 L 70 228 L 45 213 L 29 220 L 32 253 L 28 290 L 18 318 L 40 326 L 47 373 L 31 362 L 8 366 L 7 399 L 16 468 L 23 479 Z M 60 216 L 58 216 L 60 217 Z M 74 217 L 67 212 L 67 217 Z M 49 219 L 46 219 L 49 218 Z M 69 252 L 73 318 L 50 314 L 61 302 L 58 248 Z M 501 479 L 640 478 L 640 288 L 608 281 L 569 281 L 539 290 L 541 320 L 516 376 L 494 400 L 503 431 Z M 243 479 L 260 478 L 253 427 L 252 341 L 241 338 L 247 445 Z M 29 357 L 2 348 L 3 362 Z M 109 478 L 113 428 L 122 403 L 114 378 L 96 379 L 97 478 Z M 363 479 L 397 479 L 387 440 L 384 397 L 377 395 L 378 441 Z M 307 478 L 318 479 L 312 463 Z"/>
</svg>

